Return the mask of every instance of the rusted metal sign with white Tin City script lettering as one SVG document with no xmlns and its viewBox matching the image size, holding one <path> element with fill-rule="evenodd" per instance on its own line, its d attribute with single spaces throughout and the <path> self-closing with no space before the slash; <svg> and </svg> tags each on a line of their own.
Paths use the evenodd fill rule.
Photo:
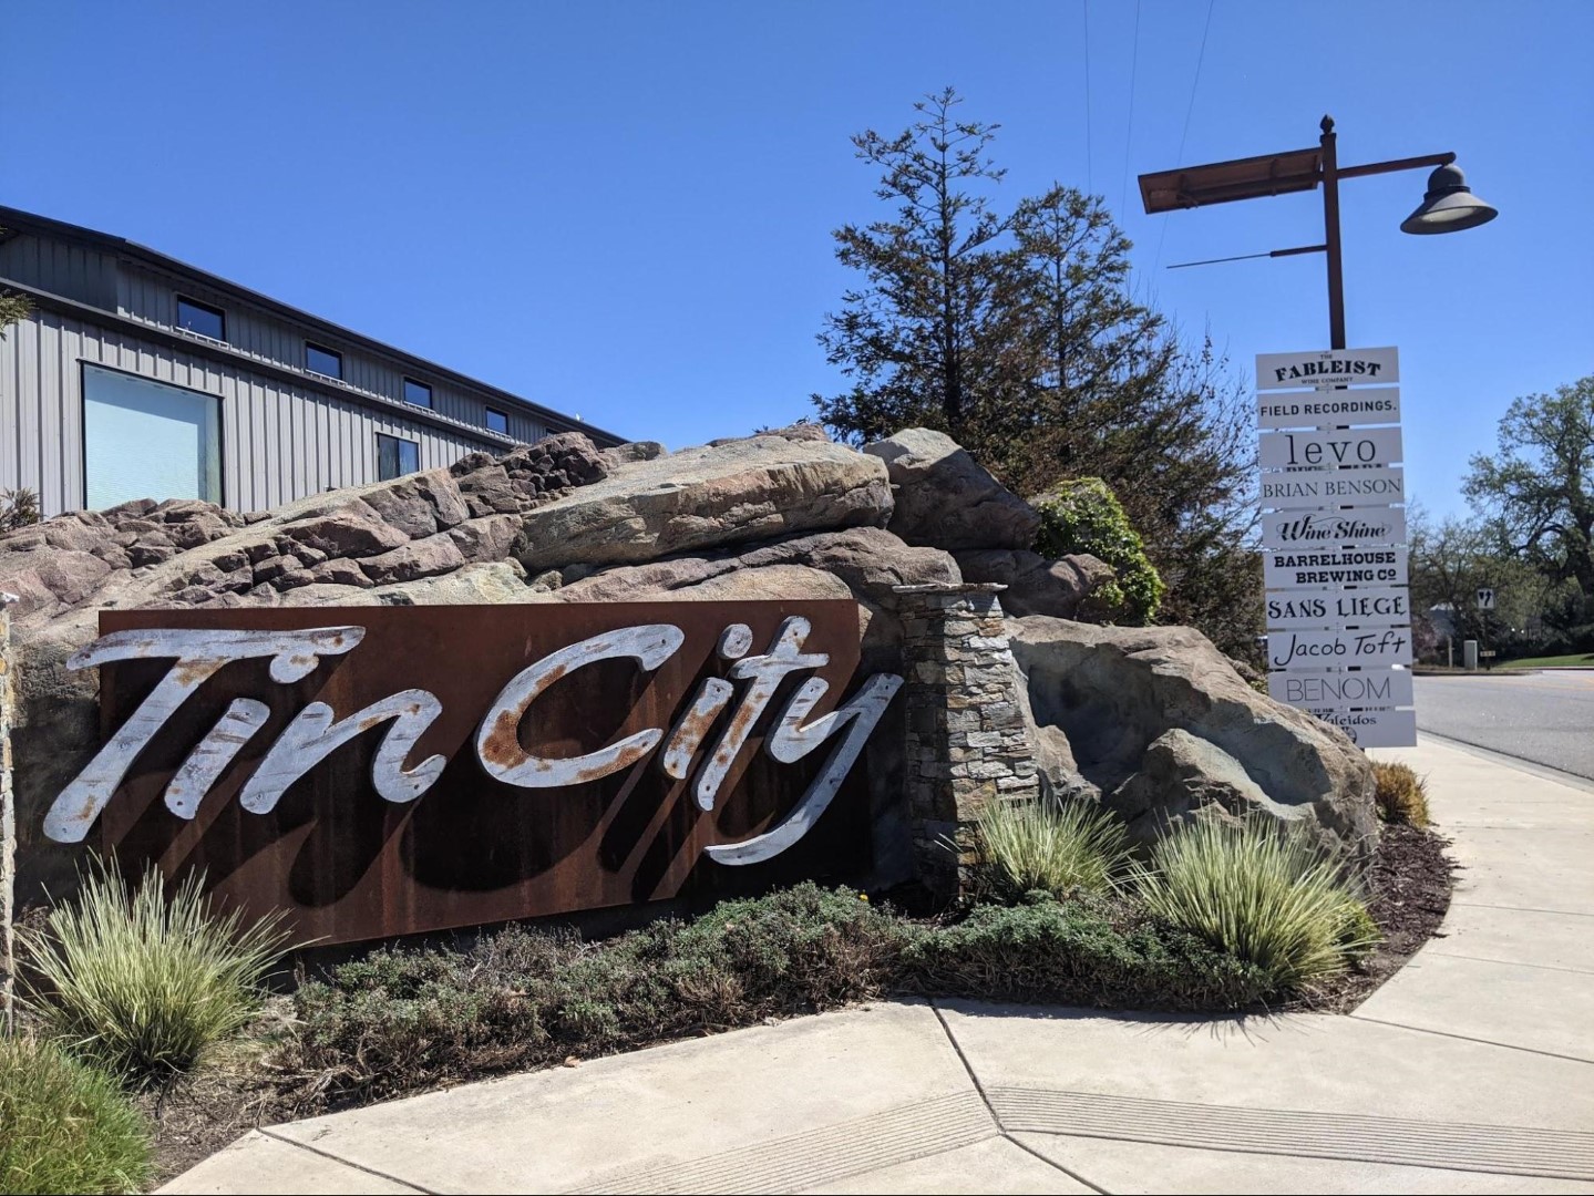
<svg viewBox="0 0 1594 1196">
<path fill-rule="evenodd" d="M 107 610 L 45 831 L 328 943 L 869 863 L 858 607 Z"/>
</svg>

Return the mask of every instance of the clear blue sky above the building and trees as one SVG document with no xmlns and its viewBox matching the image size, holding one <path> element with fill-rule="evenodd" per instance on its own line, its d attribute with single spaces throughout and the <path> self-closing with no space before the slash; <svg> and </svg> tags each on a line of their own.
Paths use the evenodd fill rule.
<svg viewBox="0 0 1594 1196">
<path fill-rule="evenodd" d="M 1342 162 L 1455 150 L 1502 212 L 1408 237 L 1422 172 L 1342 193 L 1350 342 L 1400 346 L 1411 489 L 1459 510 L 1510 400 L 1594 373 L 1594 2 L 1213 0 L 1192 91 L 1207 16 L 1143 0 L 1137 40 L 1133 0 L 14 3 L 0 202 L 679 446 L 842 387 L 829 231 L 877 210 L 848 135 L 948 83 L 1003 124 L 1003 191 L 1105 194 L 1191 334 L 1245 371 L 1326 346 L 1321 256 L 1164 269 L 1317 242 L 1315 193 L 1146 217 L 1133 175 L 1312 145 L 1329 111 Z"/>
</svg>

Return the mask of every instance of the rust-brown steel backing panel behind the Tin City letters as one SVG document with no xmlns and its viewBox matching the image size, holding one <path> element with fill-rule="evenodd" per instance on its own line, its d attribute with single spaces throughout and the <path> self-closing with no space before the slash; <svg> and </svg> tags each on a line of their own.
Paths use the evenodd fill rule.
<svg viewBox="0 0 1594 1196">
<path fill-rule="evenodd" d="M 730 760 L 717 796 L 708 795 L 713 807 L 703 809 L 698 780 L 719 736 L 744 717 L 741 698 L 751 688 L 732 680 L 736 659 L 716 650 L 720 635 L 746 624 L 751 653 L 768 651 L 791 616 L 813 624 L 803 651 L 829 659 L 781 680 Z M 681 648 L 657 669 L 634 659 L 571 667 L 536 698 L 518 726 L 497 720 L 483 729 L 494 699 L 528 666 L 588 637 L 642 624 L 669 624 L 684 634 Z M 226 664 L 155 734 L 100 814 L 102 844 L 124 868 L 147 860 L 167 876 L 202 868 L 225 903 L 252 914 L 285 909 L 296 940 L 324 943 L 867 871 L 862 760 L 816 825 L 773 860 L 727 866 L 703 852 L 779 823 L 823 771 L 829 745 L 794 763 L 773 760 L 762 745 L 787 699 L 810 678 L 823 678 L 829 691 L 808 725 L 858 688 L 859 624 L 850 600 L 100 613 L 102 635 L 150 627 L 333 626 L 363 627 L 365 635 L 346 655 L 322 658 L 300 682 L 271 680 L 266 658 Z M 100 666 L 107 739 L 171 669 L 169 658 Z M 714 678 L 722 683 L 709 683 Z M 722 696 L 725 686 L 733 690 L 728 702 L 693 701 L 700 693 Z M 435 694 L 442 710 L 403 764 L 414 768 L 432 755 L 448 761 L 419 799 L 387 801 L 375 791 L 371 761 L 394 726 L 379 721 L 289 785 L 268 812 L 242 807 L 239 796 L 257 766 L 306 704 L 325 702 L 335 718 L 346 718 L 416 688 Z M 252 699 L 223 725 L 225 734 L 249 736 L 238 756 L 214 782 L 214 761 L 190 761 L 183 769 L 234 699 Z M 690 761 L 682 763 L 679 750 L 666 758 L 682 728 L 700 729 L 703 718 L 713 726 Z M 654 748 L 595 780 L 521 788 L 489 768 L 494 758 L 516 756 L 516 748 L 569 758 L 650 728 L 663 733 Z M 169 809 L 167 787 L 180 771 L 182 796 L 174 804 L 193 809 L 193 819 Z"/>
</svg>

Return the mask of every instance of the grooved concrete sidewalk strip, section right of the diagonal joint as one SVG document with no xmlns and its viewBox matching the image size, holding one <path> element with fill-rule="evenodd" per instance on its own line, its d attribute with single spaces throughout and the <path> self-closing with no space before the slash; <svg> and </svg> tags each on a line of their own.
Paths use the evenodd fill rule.
<svg viewBox="0 0 1594 1196">
<path fill-rule="evenodd" d="M 1041 1088 L 993 1088 L 990 1097 L 1001 1124 L 1014 1132 L 1594 1180 L 1594 1134 L 1575 1131 L 1202 1105 Z"/>
</svg>

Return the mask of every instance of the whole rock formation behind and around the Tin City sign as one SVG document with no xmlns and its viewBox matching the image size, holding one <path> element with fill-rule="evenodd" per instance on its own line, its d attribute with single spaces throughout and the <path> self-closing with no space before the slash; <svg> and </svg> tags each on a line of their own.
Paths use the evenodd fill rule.
<svg viewBox="0 0 1594 1196">
<path fill-rule="evenodd" d="M 1036 556 L 1036 526 L 940 433 L 858 452 L 795 425 L 674 454 L 564 433 L 276 511 L 132 502 L 21 529 L 0 537 L 0 589 L 19 596 L 26 879 L 70 876 L 40 825 L 97 744 L 97 682 L 65 661 L 107 607 L 853 597 L 866 666 L 896 670 L 894 586 L 999 581 L 1009 615 L 1031 616 L 1014 619 L 1014 653 L 1055 788 L 1098 795 L 1143 834 L 1199 807 L 1369 834 L 1368 766 L 1344 736 L 1258 696 L 1192 631 L 1062 621 L 1113 572 Z M 869 745 L 881 827 L 901 825 L 901 718 Z"/>
</svg>

